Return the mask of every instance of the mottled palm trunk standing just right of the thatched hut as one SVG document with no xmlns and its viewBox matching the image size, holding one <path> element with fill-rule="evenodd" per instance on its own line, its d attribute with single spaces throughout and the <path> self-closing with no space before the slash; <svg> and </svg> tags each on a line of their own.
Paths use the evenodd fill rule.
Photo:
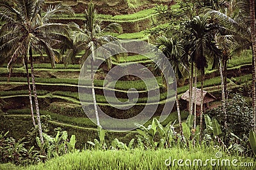
<svg viewBox="0 0 256 170">
<path fill-rule="evenodd" d="M 224 113 L 224 127 L 227 129 L 227 110 L 226 110 L 226 96 L 225 96 L 225 85 L 223 78 L 223 66 L 221 65 L 220 60 L 220 78 L 221 78 L 221 99 L 222 99 L 222 111 Z M 227 87 L 227 86 L 226 86 Z"/>
</svg>

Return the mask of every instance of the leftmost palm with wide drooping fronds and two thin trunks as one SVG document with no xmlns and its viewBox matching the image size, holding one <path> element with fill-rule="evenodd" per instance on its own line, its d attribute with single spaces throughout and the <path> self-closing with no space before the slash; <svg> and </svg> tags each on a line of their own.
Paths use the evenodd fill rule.
<svg viewBox="0 0 256 170">
<path fill-rule="evenodd" d="M 54 32 L 63 32 L 65 29 L 63 24 L 52 24 L 49 19 L 53 15 L 61 13 L 73 14 L 70 8 L 57 5 L 55 7 L 50 6 L 44 17 L 42 17 L 43 3 L 44 1 L 36 0 L 0 1 L 0 18 L 5 23 L 0 31 L 0 52 L 7 53 L 6 56 L 1 55 L 1 58 L 6 57 L 9 60 L 8 69 L 12 69 L 13 63 L 19 57 L 24 59 L 29 88 L 28 60 L 30 61 L 36 118 L 41 143 L 44 143 L 44 138 L 42 136 L 38 97 L 36 94 L 33 50 L 41 53 L 45 52 L 50 57 L 52 67 L 54 67 L 56 57 L 50 44 L 52 42 L 51 35 Z M 31 89 L 29 89 L 29 96 L 31 96 Z M 29 103 L 31 104 L 31 100 Z M 31 106 L 31 110 L 33 110 L 33 106 Z M 33 111 L 31 111 L 31 114 L 33 114 Z"/>
</svg>

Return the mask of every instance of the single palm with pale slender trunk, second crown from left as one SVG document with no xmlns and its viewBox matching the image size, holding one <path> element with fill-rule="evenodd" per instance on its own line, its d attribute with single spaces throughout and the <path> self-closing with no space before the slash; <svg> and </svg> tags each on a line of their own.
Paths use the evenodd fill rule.
<svg viewBox="0 0 256 170">
<path fill-rule="evenodd" d="M 70 62 L 74 60 L 77 53 L 83 52 L 83 56 L 80 59 L 80 64 L 83 65 L 84 61 L 91 56 L 91 79 L 92 79 L 92 97 L 93 106 L 95 110 L 95 117 L 98 127 L 100 127 L 99 115 L 97 111 L 97 102 L 95 98 L 95 89 L 93 83 L 93 63 L 95 62 L 95 50 L 100 46 L 116 41 L 113 36 L 106 35 L 106 32 L 117 31 L 120 32 L 122 27 L 119 24 L 112 23 L 101 29 L 101 23 L 95 10 L 92 1 L 88 4 L 88 9 L 84 12 L 85 24 L 83 28 L 80 28 L 77 24 L 70 24 L 69 27 L 73 31 L 68 36 L 61 39 L 68 43 L 61 45 L 61 51 L 66 53 L 64 61 Z M 67 45 L 68 44 L 68 45 Z M 108 62 L 110 63 L 110 62 Z"/>
</svg>

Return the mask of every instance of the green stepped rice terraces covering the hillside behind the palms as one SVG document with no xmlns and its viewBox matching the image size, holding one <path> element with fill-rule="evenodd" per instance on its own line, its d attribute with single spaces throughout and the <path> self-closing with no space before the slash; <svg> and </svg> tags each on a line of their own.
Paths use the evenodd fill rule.
<svg viewBox="0 0 256 170">
<path fill-rule="evenodd" d="M 48 5 L 63 3 L 72 6 L 76 15 L 74 17 L 54 18 L 63 23 L 70 21 L 83 24 L 83 11 L 89 1 L 46 1 Z M 137 0 L 105 0 L 95 1 L 97 10 L 99 11 L 102 24 L 110 22 L 117 22 L 122 25 L 123 32 L 118 34 L 116 32 L 109 32 L 119 39 L 142 39 L 150 41 L 149 34 L 145 34 L 145 30 L 150 28 L 150 25 L 157 15 L 153 9 L 155 3 L 166 3 L 166 1 L 137 1 Z M 143 6 L 143 7 L 142 7 Z M 173 6 L 172 8 L 179 8 Z M 168 27 L 168 24 L 161 25 Z M 79 59 L 81 56 L 77 56 Z M 35 74 L 36 74 L 36 89 L 38 90 L 40 113 L 41 115 L 51 115 L 49 123 L 50 133 L 56 127 L 61 127 L 68 131 L 68 134 L 76 134 L 78 145 L 83 148 L 83 143 L 97 138 L 96 125 L 91 122 L 84 114 L 83 108 L 79 101 L 77 92 L 80 65 L 73 64 L 64 66 L 63 63 L 56 64 L 56 68 L 52 69 L 49 60 L 45 55 L 35 54 Z M 132 54 L 121 57 L 118 60 L 113 60 L 113 65 L 129 64 L 137 62 L 147 66 L 149 69 L 152 60 L 143 55 Z M 239 89 L 240 85 L 252 79 L 250 75 L 250 66 L 252 65 L 252 53 L 244 52 L 241 56 L 233 57 L 228 63 L 228 89 Z M 205 90 L 214 93 L 215 96 L 220 97 L 221 81 L 218 76 L 218 70 L 207 68 L 207 75 L 204 82 Z M 169 99 L 164 92 L 163 84 L 160 76 L 156 76 L 157 83 L 160 87 L 160 103 L 155 97 L 148 98 L 147 87 L 140 79 L 132 79 L 131 77 L 124 78 L 116 83 L 115 91 L 119 101 L 127 101 L 127 93 L 129 89 L 135 88 L 138 90 L 139 99 L 136 106 L 130 110 L 116 110 L 108 104 L 106 97 L 102 92 L 103 80 L 106 76 L 106 69 L 102 67 L 95 75 L 95 92 L 97 104 L 103 111 L 116 118 L 129 118 L 140 113 L 143 110 L 145 103 L 149 101 L 150 104 L 157 105 L 155 117 L 159 116 L 163 106 Z M 29 99 L 28 88 L 26 84 L 26 71 L 22 64 L 16 64 L 13 67 L 12 77 L 8 82 L 8 70 L 6 65 L 0 67 L 0 107 L 1 107 L 1 122 L 0 126 L 3 131 L 10 131 L 10 136 L 17 138 L 23 137 L 32 127 L 31 117 L 29 117 Z M 198 83 L 199 87 L 200 83 Z M 188 85 L 181 85 L 178 89 L 178 94 L 188 90 Z M 92 101 L 86 101 L 92 104 Z M 174 121 L 177 116 L 173 112 L 163 124 L 168 121 Z M 188 113 L 182 112 L 182 119 L 186 119 Z M 22 127 L 22 128 L 20 128 Z M 22 131 L 22 132 L 21 132 Z M 109 132 L 107 140 L 118 136 L 121 141 L 129 141 L 134 132 Z"/>
</svg>

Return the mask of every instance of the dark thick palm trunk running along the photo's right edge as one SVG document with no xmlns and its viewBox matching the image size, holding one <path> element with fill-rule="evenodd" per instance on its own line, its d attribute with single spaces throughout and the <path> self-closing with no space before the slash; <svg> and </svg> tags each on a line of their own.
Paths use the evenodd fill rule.
<svg viewBox="0 0 256 170">
<path fill-rule="evenodd" d="M 256 132 L 256 97 L 255 97 L 255 73 L 256 73 L 256 30 L 255 30 L 255 2 L 250 0 L 250 25 L 251 25 L 251 38 L 252 38 L 252 52 L 253 52 L 253 71 L 252 71 L 252 106 L 253 106 L 253 115 L 254 115 L 254 131 Z"/>
</svg>

